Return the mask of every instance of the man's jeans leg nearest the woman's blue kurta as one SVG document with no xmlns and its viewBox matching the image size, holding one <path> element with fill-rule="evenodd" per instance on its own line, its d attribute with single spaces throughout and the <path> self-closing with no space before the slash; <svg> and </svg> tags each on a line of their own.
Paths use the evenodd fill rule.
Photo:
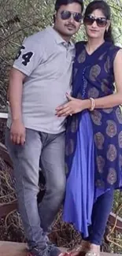
<svg viewBox="0 0 122 256">
<path fill-rule="evenodd" d="M 39 216 L 43 230 L 48 232 L 65 195 L 65 132 L 47 136 L 41 164 L 46 178 L 46 193 L 39 203 Z"/>
</svg>

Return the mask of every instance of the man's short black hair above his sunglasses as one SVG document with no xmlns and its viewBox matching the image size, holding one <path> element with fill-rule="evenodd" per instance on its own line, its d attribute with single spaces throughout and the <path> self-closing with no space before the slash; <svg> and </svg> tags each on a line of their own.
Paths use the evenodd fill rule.
<svg viewBox="0 0 122 256">
<path fill-rule="evenodd" d="M 57 12 L 61 6 L 67 6 L 73 2 L 77 2 L 81 6 L 81 10 L 83 12 L 83 0 L 56 0 L 55 11 Z"/>
</svg>

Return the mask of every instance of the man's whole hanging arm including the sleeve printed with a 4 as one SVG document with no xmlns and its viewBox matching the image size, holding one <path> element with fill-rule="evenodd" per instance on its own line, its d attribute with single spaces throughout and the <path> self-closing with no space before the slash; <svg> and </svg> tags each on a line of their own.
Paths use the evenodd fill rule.
<svg viewBox="0 0 122 256">
<path fill-rule="evenodd" d="M 22 117 L 24 79 L 26 76 L 31 76 L 31 73 L 43 61 L 43 46 L 36 36 L 32 35 L 24 40 L 13 63 L 13 69 L 10 72 L 9 105 L 12 114 L 10 139 L 14 144 L 24 145 L 26 139 Z"/>
</svg>

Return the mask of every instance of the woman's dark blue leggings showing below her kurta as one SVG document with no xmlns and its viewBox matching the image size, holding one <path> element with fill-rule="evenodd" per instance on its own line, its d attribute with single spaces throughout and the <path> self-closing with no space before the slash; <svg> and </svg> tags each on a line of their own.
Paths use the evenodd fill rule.
<svg viewBox="0 0 122 256">
<path fill-rule="evenodd" d="M 94 203 L 91 217 L 92 224 L 89 226 L 89 236 L 83 238 L 84 240 L 90 241 L 96 245 L 101 245 L 105 226 L 113 206 L 113 194 L 114 190 L 112 188 L 106 191 L 105 194 L 99 196 Z"/>
</svg>

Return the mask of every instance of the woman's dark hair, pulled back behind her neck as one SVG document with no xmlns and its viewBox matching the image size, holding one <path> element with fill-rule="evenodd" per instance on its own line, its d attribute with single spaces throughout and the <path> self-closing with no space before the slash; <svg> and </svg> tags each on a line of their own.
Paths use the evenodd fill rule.
<svg viewBox="0 0 122 256">
<path fill-rule="evenodd" d="M 110 20 L 110 18 L 111 18 L 110 7 L 103 0 L 95 0 L 95 1 L 91 2 L 87 6 L 87 9 L 85 11 L 84 17 L 87 17 L 88 15 L 91 15 L 91 13 L 93 13 L 95 9 L 101 9 L 102 13 L 105 15 L 106 19 Z M 107 42 L 114 43 L 111 24 L 109 26 L 108 31 L 105 31 L 104 39 Z"/>
</svg>

